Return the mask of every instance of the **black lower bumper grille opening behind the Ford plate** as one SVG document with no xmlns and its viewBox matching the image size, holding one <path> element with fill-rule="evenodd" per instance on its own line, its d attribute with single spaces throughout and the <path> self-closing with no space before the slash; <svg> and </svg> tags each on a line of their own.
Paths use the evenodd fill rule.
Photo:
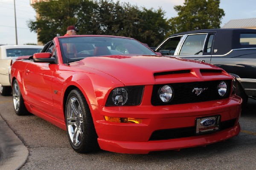
<svg viewBox="0 0 256 170">
<path fill-rule="evenodd" d="M 235 125 L 236 119 L 223 121 L 220 124 L 220 131 L 231 128 Z M 167 140 L 175 138 L 186 138 L 195 136 L 195 127 L 183 127 L 177 129 L 156 130 L 149 138 L 150 141 Z"/>
</svg>

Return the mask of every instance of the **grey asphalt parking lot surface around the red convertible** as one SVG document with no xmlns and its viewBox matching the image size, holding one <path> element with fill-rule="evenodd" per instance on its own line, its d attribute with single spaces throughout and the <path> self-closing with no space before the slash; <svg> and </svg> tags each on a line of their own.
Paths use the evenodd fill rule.
<svg viewBox="0 0 256 170">
<path fill-rule="evenodd" d="M 100 153 L 96 154 L 75 153 L 69 146 L 65 133 L 62 132 L 62 130 L 60 130 L 58 127 L 55 127 L 47 123 L 46 121 L 37 118 L 36 116 L 30 116 L 30 118 L 29 116 L 19 117 L 20 121 L 15 121 L 16 115 L 13 111 L 11 111 L 13 108 L 7 107 L 7 105 L 12 105 L 12 98 L 1 98 L 0 104 L 2 104 L 0 112 L 5 112 L 5 114 L 3 114 L 3 117 L 1 117 L 0 115 L 0 170 L 17 170 L 19 168 L 37 169 L 38 166 L 42 166 L 41 169 L 51 169 L 52 166 L 55 166 L 56 169 L 77 169 L 77 167 L 84 167 L 85 165 L 87 166 L 87 169 L 92 169 L 92 167 L 94 167 L 93 169 L 104 169 L 102 167 L 105 167 L 106 170 L 145 170 L 155 169 L 156 167 L 158 167 L 157 169 L 175 169 L 173 167 L 176 167 L 176 169 L 184 169 L 186 165 L 189 165 L 191 167 L 187 167 L 185 169 L 193 169 L 192 167 L 195 167 L 194 169 L 197 170 L 206 170 L 209 169 L 209 167 L 214 166 L 226 167 L 226 169 L 228 170 L 255 170 L 256 164 L 255 161 L 253 160 L 255 160 L 256 158 L 256 152 L 254 147 L 256 127 L 253 126 L 255 125 L 255 123 L 253 123 L 254 121 L 252 121 L 255 120 L 255 100 L 250 100 L 248 109 L 246 110 L 245 115 L 243 115 L 241 118 L 240 122 L 242 125 L 242 130 L 238 137 L 230 139 L 229 141 L 222 144 L 212 144 L 211 146 L 208 147 L 208 149 L 204 150 L 201 148 L 190 148 L 175 153 L 172 153 L 171 151 L 166 151 L 160 153 L 152 153 L 151 155 L 149 154 L 146 156 L 130 156 L 125 154 L 109 153 L 105 151 L 101 151 Z M 11 116 L 9 114 L 14 116 Z M 35 121 L 35 119 L 38 124 L 38 127 L 32 129 L 31 127 L 33 126 L 31 126 L 30 123 Z M 6 121 L 9 122 L 9 125 L 6 123 Z M 46 125 L 49 125 L 49 127 L 45 127 L 46 129 L 48 129 L 47 134 L 44 134 L 44 129 L 41 131 L 40 134 L 43 137 L 38 138 L 38 140 L 43 141 L 43 144 L 41 144 L 40 142 L 38 142 L 37 144 L 37 141 L 35 141 L 37 136 L 34 136 L 35 133 L 33 135 L 32 131 L 38 131 L 39 129 L 42 129 Z M 16 127 L 16 129 L 12 130 L 14 126 Z M 24 133 L 17 133 L 17 129 L 19 129 L 20 126 L 24 126 Z M 27 145 L 29 150 L 13 131 L 17 133 L 17 135 L 19 135 L 19 137 L 23 141 L 24 137 L 22 136 L 24 134 L 32 136 L 31 139 L 29 138 L 28 141 L 25 141 L 25 144 Z M 55 133 L 58 134 L 56 135 Z M 45 136 L 49 134 L 52 134 L 51 141 L 49 141 L 49 139 L 43 140 L 43 138 L 45 138 Z M 58 141 L 55 142 L 55 138 L 58 138 Z M 232 145 L 232 147 L 229 147 L 229 145 Z M 57 156 L 56 154 L 54 155 L 53 152 L 58 152 Z M 30 161 L 28 156 L 30 158 Z M 224 158 L 223 156 L 225 156 L 226 158 Z M 53 161 L 51 161 L 52 159 Z M 217 164 L 213 164 L 214 162 Z M 52 163 L 55 164 L 53 165 Z M 106 164 L 108 164 L 109 167 L 106 167 Z M 147 164 L 147 167 L 145 167 L 145 164 Z M 175 164 L 177 164 L 177 166 Z M 115 168 L 113 168 L 113 166 Z"/>
</svg>

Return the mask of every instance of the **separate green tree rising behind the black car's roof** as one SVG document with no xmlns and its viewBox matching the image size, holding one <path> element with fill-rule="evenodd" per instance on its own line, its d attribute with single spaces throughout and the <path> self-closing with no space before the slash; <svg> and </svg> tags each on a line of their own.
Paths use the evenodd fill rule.
<svg viewBox="0 0 256 170">
<path fill-rule="evenodd" d="M 225 16 L 224 10 L 219 8 L 220 0 L 185 0 L 183 4 L 174 6 L 178 16 L 169 20 L 172 26 L 169 34 L 220 28 L 221 19 Z"/>
</svg>

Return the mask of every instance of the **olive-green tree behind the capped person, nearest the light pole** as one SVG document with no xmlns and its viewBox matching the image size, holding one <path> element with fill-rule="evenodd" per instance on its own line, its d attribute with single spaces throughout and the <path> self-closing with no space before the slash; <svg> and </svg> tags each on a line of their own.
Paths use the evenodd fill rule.
<svg viewBox="0 0 256 170">
<path fill-rule="evenodd" d="M 34 4 L 38 17 L 35 21 L 29 20 L 28 26 L 38 33 L 38 40 L 42 43 L 49 42 L 57 34 L 64 35 L 70 25 L 79 27 L 81 34 L 91 34 L 87 28 L 95 6 L 90 0 L 42 1 Z"/>
</svg>

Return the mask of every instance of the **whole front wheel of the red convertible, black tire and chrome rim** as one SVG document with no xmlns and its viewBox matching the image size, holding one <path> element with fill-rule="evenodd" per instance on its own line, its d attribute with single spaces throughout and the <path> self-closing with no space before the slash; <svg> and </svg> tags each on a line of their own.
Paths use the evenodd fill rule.
<svg viewBox="0 0 256 170">
<path fill-rule="evenodd" d="M 87 153 L 99 148 L 89 106 L 79 89 L 73 89 L 67 97 L 65 119 L 68 139 L 76 152 Z"/>
</svg>

